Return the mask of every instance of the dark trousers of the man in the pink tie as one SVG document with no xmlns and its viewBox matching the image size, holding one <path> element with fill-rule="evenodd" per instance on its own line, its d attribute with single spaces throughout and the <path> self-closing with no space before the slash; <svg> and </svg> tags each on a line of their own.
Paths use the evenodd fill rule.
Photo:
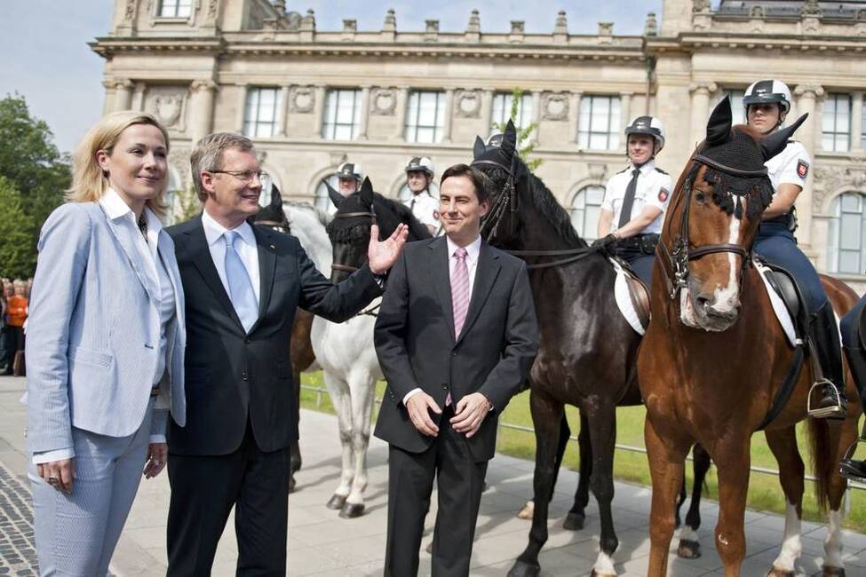
<svg viewBox="0 0 866 577">
<path fill-rule="evenodd" d="M 465 436 L 443 411 L 439 436 L 423 453 L 391 445 L 388 452 L 388 533 L 385 577 L 418 573 L 418 549 L 430 508 L 433 477 L 439 511 L 433 530 L 433 577 L 467 577 L 487 462 L 475 462 Z"/>
</svg>

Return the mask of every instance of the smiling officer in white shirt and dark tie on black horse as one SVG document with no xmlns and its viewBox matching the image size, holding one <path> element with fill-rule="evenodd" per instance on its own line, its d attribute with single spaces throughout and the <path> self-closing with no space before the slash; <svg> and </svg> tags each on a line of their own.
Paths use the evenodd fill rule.
<svg viewBox="0 0 866 577">
<path fill-rule="evenodd" d="M 664 127 L 657 118 L 638 116 L 625 128 L 625 136 L 629 166 L 608 180 L 594 246 L 615 249 L 650 286 L 663 212 L 671 200 L 671 175 L 655 166 L 655 154 L 664 146 Z"/>
</svg>

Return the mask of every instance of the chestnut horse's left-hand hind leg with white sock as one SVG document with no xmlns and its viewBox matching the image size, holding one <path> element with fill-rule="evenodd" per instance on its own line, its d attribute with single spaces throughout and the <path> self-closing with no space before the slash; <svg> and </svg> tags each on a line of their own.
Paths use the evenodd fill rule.
<svg viewBox="0 0 866 577">
<path fill-rule="evenodd" d="M 765 431 L 764 434 L 767 445 L 779 463 L 779 482 L 785 494 L 785 534 L 782 550 L 767 575 L 794 577 L 797 571 L 795 565 L 803 552 L 800 521 L 803 516 L 803 476 L 806 466 L 797 448 L 797 433 L 794 427 Z"/>
</svg>

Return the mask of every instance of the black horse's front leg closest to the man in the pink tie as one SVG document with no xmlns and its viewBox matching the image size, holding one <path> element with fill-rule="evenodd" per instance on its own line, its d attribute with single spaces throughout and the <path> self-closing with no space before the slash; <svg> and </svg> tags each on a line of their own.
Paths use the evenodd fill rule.
<svg viewBox="0 0 866 577">
<path fill-rule="evenodd" d="M 529 408 L 536 429 L 536 470 L 533 476 L 535 510 L 526 549 L 508 572 L 508 577 L 537 577 L 541 573 L 538 552 L 547 541 L 547 515 L 553 486 L 553 468 L 556 465 L 556 443 L 564 407 L 562 403 L 537 389 L 529 393 Z"/>
</svg>

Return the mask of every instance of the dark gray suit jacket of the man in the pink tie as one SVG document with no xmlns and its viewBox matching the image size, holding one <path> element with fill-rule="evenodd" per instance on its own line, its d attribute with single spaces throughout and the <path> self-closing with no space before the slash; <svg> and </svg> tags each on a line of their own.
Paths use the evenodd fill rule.
<svg viewBox="0 0 866 577">
<path fill-rule="evenodd" d="M 487 461 L 496 451 L 498 414 L 520 391 L 538 351 L 535 307 L 523 261 L 482 241 L 469 311 L 455 338 L 448 259 L 448 243 L 438 237 L 407 244 L 393 267 L 374 334 L 388 381 L 375 434 L 425 451 L 433 437 L 417 431 L 403 397 L 419 387 L 444 407 L 449 391 L 455 404 L 478 391 L 495 410 L 467 440 L 475 461 Z"/>
</svg>

